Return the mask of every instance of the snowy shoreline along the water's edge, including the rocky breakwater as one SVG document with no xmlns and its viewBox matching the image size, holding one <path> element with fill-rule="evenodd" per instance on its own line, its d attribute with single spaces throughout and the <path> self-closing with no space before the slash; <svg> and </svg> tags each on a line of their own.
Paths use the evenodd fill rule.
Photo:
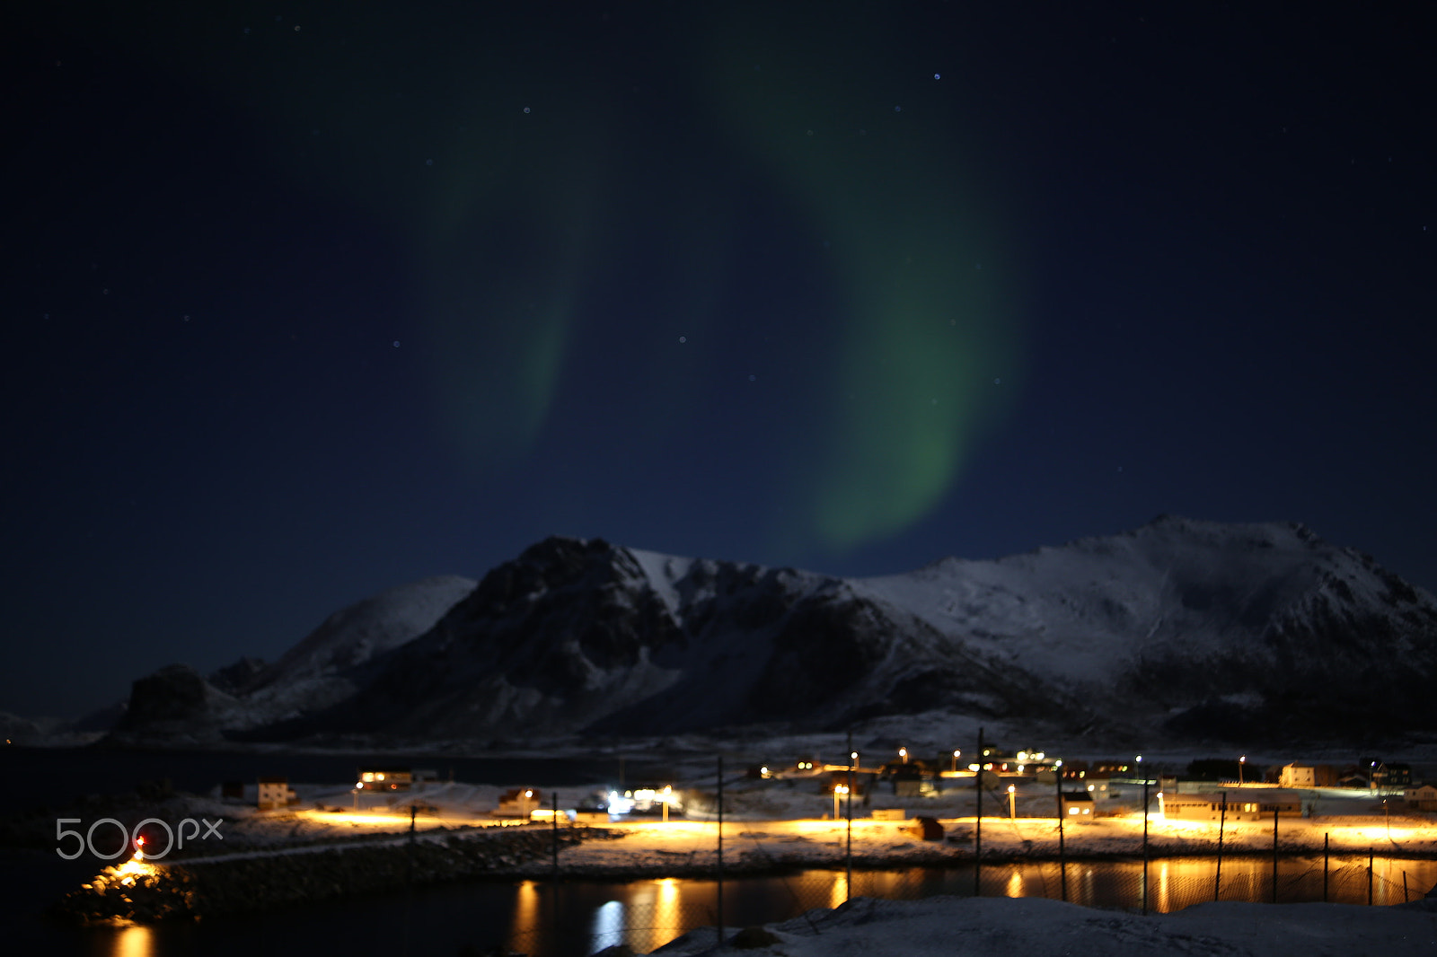
<svg viewBox="0 0 1437 957">
<path fill-rule="evenodd" d="M 948 839 L 923 841 L 905 822 L 855 820 L 851 866 L 854 871 L 970 868 L 976 859 L 973 842 L 966 841 L 971 820 L 944 823 Z M 1073 828 L 1078 833 L 1065 842 L 1072 848 L 1065 855 L 1066 862 L 1079 866 L 1085 861 L 1140 861 L 1141 819 L 1137 833 L 1132 823 L 1114 819 Z M 1050 833 L 1053 839 L 1032 839 L 1025 833 L 1033 838 Z M 716 838 L 716 823 L 677 819 L 608 828 L 526 825 L 435 828 L 412 836 L 369 833 L 354 841 L 292 843 L 170 862 L 135 861 L 106 869 L 69 894 L 57 911 L 68 921 L 82 924 L 155 923 L 457 881 L 714 879 L 720 874 L 739 879 L 800 871 L 841 872 L 849 864 L 846 822 L 726 825 L 721 869 Z M 1255 846 L 1263 838 L 1270 842 L 1257 826 L 1236 831 L 1232 843 L 1224 839 L 1223 856 L 1266 859 L 1272 855 L 1270 845 Z M 1381 856 L 1385 861 L 1437 858 L 1437 848 L 1430 842 L 1417 845 L 1390 843 Z M 1056 849 L 1052 822 L 1007 820 L 1003 826 L 984 828 L 981 861 L 984 866 L 1052 865 L 1059 861 Z M 1158 865 L 1177 858 L 1216 858 L 1216 843 L 1203 841 L 1152 843 L 1148 859 Z M 1321 856 L 1321 843 L 1316 848 L 1285 843 L 1279 846 L 1279 856 L 1288 861 Z M 1367 848 L 1361 852 L 1342 848 L 1334 858 L 1338 864 L 1354 858 L 1365 862 Z M 1426 887 L 1413 889 L 1415 894 L 1427 891 Z"/>
</svg>

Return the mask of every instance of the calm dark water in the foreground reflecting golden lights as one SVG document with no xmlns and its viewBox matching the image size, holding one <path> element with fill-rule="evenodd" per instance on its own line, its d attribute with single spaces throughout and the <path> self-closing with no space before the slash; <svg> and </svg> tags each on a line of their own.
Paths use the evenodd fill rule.
<svg viewBox="0 0 1437 957">
<path fill-rule="evenodd" d="M 52 855 L 53 861 L 53 855 Z M 95 957 L 158 957 L 217 954 L 253 957 L 256 953 L 366 953 L 375 947 L 395 954 L 451 956 L 466 946 L 507 943 L 533 957 L 583 957 L 627 941 L 650 951 L 696 927 L 714 924 L 717 887 L 713 881 L 648 879 L 619 884 L 570 881 L 550 885 L 479 882 L 398 891 L 379 898 L 282 910 L 244 920 L 154 928 L 59 928 L 33 914 L 46 900 L 73 887 L 73 868 L 55 866 L 42 854 L 0 858 L 3 892 L 23 907 L 23 917 L 4 920 L 11 953 L 91 954 Z M 63 862 L 59 862 L 63 864 Z M 1377 858 L 1372 901 L 1403 902 L 1403 878 L 1415 900 L 1437 882 L 1437 861 Z M 1211 858 L 1173 858 L 1148 865 L 1148 905 L 1173 911 L 1213 898 L 1216 862 Z M 1270 901 L 1272 859 L 1223 861 L 1223 900 Z M 1328 872 L 1328 895 L 1335 902 L 1367 904 L 1367 858 L 1336 858 Z M 983 869 L 989 897 L 1050 897 L 1062 892 L 1058 864 L 990 865 Z M 1322 858 L 1280 862 L 1279 900 L 1322 900 Z M 743 927 L 796 917 L 816 907 L 836 907 L 849 888 L 842 871 L 806 871 L 786 878 L 744 878 L 724 882 L 724 924 Z M 920 898 L 934 894 L 973 894 L 973 871 L 907 868 L 854 874 L 855 897 Z M 1137 910 L 1142 902 L 1141 861 L 1068 865 L 1068 900 L 1094 907 Z M 29 947 L 24 947 L 29 944 Z"/>
</svg>

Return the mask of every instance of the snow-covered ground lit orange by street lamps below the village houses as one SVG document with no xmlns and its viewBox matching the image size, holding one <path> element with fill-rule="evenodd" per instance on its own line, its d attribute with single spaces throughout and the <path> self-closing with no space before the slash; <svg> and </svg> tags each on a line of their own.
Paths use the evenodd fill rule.
<svg viewBox="0 0 1437 957">
<path fill-rule="evenodd" d="M 697 786 L 698 790 L 711 789 L 713 780 L 700 780 Z M 680 789 L 684 790 L 683 782 Z M 296 790 L 302 803 L 280 812 L 224 805 L 224 849 L 407 832 L 412 803 L 420 805 L 414 819 L 420 832 L 494 826 L 499 820 L 490 812 L 507 789 L 443 783 L 362 802 L 356 802 L 349 790 L 338 787 L 300 785 Z M 604 785 L 593 785 L 542 792 L 543 806 L 547 808 L 556 795 L 560 809 L 576 808 L 602 790 Z M 1265 789 L 1246 789 L 1255 799 L 1262 798 L 1262 790 Z M 1236 803 L 1243 793 L 1229 789 L 1229 800 Z M 1282 854 L 1321 854 L 1326 841 L 1335 855 L 1367 854 L 1371 849 L 1385 856 L 1437 856 L 1437 815 L 1384 815 L 1381 803 L 1368 795 L 1311 793 L 1318 815 L 1280 820 L 1277 838 Z M 841 800 L 838 818 L 833 819 L 832 796 L 818 793 L 813 777 L 730 782 L 726 785 L 724 803 L 726 862 L 730 866 L 841 866 L 846 858 L 846 806 Z M 1007 800 L 986 798 L 981 826 L 984 858 L 1056 858 L 1059 839 L 1053 805 L 1053 792 L 1048 786 L 1029 786 L 1015 792 L 1012 810 L 1017 816 L 1013 818 L 1007 816 Z M 214 806 L 211 810 L 220 809 L 221 806 Z M 904 819 L 875 820 L 871 816 L 875 809 L 900 812 Z M 1141 810 L 1117 810 L 1114 816 L 1066 822 L 1066 854 L 1072 858 L 1140 855 L 1144 829 Z M 944 831 L 944 841 L 923 841 L 915 836 L 912 819 L 917 816 L 937 819 Z M 710 869 L 717 862 L 718 826 L 711 813 L 690 809 L 688 816 L 675 815 L 667 823 L 658 818 L 638 816 L 615 816 L 608 822 L 599 819 L 591 823 L 621 836 L 563 849 L 560 866 L 570 874 L 688 874 Z M 1154 812 L 1147 825 L 1151 856 L 1217 852 L 1217 823 L 1170 820 Z M 874 793 L 869 808 L 864 808 L 861 802 L 854 803 L 852 854 L 868 866 L 971 859 L 976 832 L 974 796 L 970 789 L 953 789 L 935 798 Z M 1221 828 L 1221 841 L 1227 854 L 1269 852 L 1272 822 L 1227 820 Z M 205 848 L 211 854 L 218 849 Z"/>
</svg>

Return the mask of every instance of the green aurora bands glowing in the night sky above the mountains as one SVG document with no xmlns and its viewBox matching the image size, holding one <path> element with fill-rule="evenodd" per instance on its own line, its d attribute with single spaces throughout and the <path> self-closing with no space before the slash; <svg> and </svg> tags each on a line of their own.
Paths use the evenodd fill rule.
<svg viewBox="0 0 1437 957">
<path fill-rule="evenodd" d="M 642 201 L 635 149 L 673 162 L 651 184 L 665 221 L 706 234 L 662 264 L 673 328 L 720 335 L 714 303 L 743 282 L 723 256 L 743 240 L 726 211 L 743 188 L 734 167 L 756 164 L 806 220 L 792 228 L 831 241 L 832 336 L 809 356 L 805 421 L 772 463 L 789 486 L 769 535 L 777 550 L 844 553 L 920 522 L 1020 378 L 1013 282 L 992 282 L 1006 250 L 974 201 L 996 190 L 944 99 L 963 79 L 884 62 L 872 50 L 890 40 L 869 23 L 673 24 L 667 82 L 691 112 L 684 128 L 711 128 L 674 145 L 605 95 L 625 80 L 591 47 L 589 24 L 549 30 L 540 16 L 493 11 L 397 24 L 368 4 L 290 23 L 257 10 L 243 34 L 241 14 L 195 20 L 182 7 L 99 29 L 228 83 L 297 185 L 392 224 L 412 259 L 440 428 L 480 478 L 542 440 L 566 371 L 585 361 L 573 346 L 585 290 Z M 835 73 L 831 60 L 855 66 Z M 703 362 L 642 361 L 655 397 Z M 654 407 L 668 410 L 660 430 L 681 427 L 683 401 Z"/>
</svg>

